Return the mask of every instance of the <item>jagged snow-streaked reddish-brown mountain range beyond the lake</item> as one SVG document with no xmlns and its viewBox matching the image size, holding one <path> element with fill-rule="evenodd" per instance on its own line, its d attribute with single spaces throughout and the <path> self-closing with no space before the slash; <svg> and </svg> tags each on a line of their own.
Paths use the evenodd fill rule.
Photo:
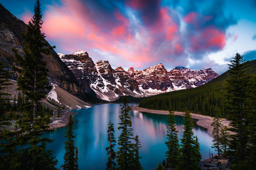
<svg viewBox="0 0 256 170">
<path fill-rule="evenodd" d="M 106 101 L 114 101 L 124 95 L 142 97 L 191 89 L 206 84 L 219 75 L 210 68 L 191 70 L 176 67 L 167 71 L 161 63 L 144 70 L 134 70 L 133 67 L 127 71 L 122 67 L 112 69 L 108 61 L 100 60 L 95 63 L 82 50 L 72 55 L 58 55 L 84 89 L 88 92 L 95 91 L 99 98 Z"/>
</svg>

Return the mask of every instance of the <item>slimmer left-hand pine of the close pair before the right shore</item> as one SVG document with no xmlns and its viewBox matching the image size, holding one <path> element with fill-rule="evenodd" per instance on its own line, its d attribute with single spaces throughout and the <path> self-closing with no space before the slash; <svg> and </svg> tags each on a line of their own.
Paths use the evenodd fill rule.
<svg viewBox="0 0 256 170">
<path fill-rule="evenodd" d="M 166 166 L 175 168 L 178 162 L 179 145 L 178 145 L 178 130 L 176 130 L 176 122 L 174 111 L 169 110 L 169 120 L 167 125 L 167 151 L 166 151 Z"/>
</svg>

